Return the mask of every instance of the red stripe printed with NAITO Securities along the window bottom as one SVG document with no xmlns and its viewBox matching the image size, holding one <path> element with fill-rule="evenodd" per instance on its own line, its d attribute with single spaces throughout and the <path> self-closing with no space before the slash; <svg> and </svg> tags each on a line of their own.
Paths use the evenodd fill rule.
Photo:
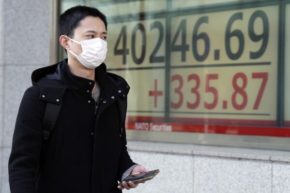
<svg viewBox="0 0 290 193">
<path fill-rule="evenodd" d="M 258 123 L 261 122 L 261 120 L 258 121 L 255 120 L 254 122 Z M 129 130 L 141 130 L 141 131 L 290 137 L 290 128 L 287 127 L 261 127 L 261 126 L 215 125 L 215 124 L 204 125 L 190 123 L 171 123 L 171 122 L 160 123 L 154 121 L 129 120 L 128 122 L 126 122 L 126 128 Z"/>
</svg>

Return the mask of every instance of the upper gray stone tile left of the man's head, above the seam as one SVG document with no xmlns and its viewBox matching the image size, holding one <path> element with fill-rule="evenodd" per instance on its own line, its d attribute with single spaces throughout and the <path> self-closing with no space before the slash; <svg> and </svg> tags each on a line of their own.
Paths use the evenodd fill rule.
<svg viewBox="0 0 290 193">
<path fill-rule="evenodd" d="M 50 0 L 4 0 L 5 65 L 47 65 Z"/>
</svg>

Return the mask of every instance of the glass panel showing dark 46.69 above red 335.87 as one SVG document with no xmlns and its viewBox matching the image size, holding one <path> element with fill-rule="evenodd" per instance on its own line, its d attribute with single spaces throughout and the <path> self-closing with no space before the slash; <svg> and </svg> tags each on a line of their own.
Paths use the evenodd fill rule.
<svg viewBox="0 0 290 193">
<path fill-rule="evenodd" d="M 278 17 L 277 5 L 172 17 L 170 120 L 274 126 Z"/>
</svg>

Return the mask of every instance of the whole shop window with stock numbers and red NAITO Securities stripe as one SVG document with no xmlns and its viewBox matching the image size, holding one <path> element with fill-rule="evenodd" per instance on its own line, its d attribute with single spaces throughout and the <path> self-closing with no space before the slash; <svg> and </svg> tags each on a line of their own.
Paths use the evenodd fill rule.
<svg viewBox="0 0 290 193">
<path fill-rule="evenodd" d="M 289 137 L 288 2 L 62 0 L 61 10 L 107 15 L 105 63 L 131 86 L 128 130 Z"/>
</svg>

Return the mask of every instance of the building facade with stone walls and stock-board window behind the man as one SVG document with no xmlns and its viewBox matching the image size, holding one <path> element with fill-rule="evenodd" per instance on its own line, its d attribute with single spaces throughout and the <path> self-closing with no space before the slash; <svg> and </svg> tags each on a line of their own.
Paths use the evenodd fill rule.
<svg viewBox="0 0 290 193">
<path fill-rule="evenodd" d="M 132 193 L 290 192 L 290 0 L 0 0 L 0 193 L 34 69 L 65 58 L 57 18 L 108 18 L 109 71 L 131 86 Z"/>
</svg>

